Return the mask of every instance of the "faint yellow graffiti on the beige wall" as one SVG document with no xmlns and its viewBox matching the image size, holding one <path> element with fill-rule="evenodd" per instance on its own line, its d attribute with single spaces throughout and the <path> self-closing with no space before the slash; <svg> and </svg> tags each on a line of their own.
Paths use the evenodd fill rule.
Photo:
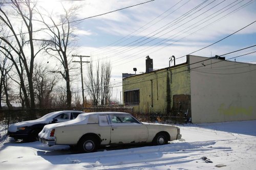
<svg viewBox="0 0 256 170">
<path fill-rule="evenodd" d="M 225 115 L 238 115 L 238 114 L 245 114 L 245 115 L 252 115 L 252 107 L 236 107 L 236 106 L 229 106 L 225 107 L 225 104 L 221 104 L 218 109 L 219 113 Z"/>
</svg>

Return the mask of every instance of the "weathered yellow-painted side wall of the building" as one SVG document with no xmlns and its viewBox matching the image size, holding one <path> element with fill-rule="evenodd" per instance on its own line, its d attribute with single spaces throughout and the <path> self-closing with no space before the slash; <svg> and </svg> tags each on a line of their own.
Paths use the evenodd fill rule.
<svg viewBox="0 0 256 170">
<path fill-rule="evenodd" d="M 167 81 L 169 81 L 171 107 L 174 94 L 190 94 L 190 74 L 187 70 L 187 64 L 124 78 L 123 94 L 127 90 L 140 89 L 140 103 L 133 105 L 135 113 L 165 114 L 168 104 L 166 99 Z"/>
</svg>

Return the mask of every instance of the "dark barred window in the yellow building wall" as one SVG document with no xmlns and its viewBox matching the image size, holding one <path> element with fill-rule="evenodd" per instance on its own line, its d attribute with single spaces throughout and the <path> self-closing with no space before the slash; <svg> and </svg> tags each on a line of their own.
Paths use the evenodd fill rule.
<svg viewBox="0 0 256 170">
<path fill-rule="evenodd" d="M 124 91 L 124 104 L 125 105 L 139 105 L 140 103 L 140 90 Z"/>
</svg>

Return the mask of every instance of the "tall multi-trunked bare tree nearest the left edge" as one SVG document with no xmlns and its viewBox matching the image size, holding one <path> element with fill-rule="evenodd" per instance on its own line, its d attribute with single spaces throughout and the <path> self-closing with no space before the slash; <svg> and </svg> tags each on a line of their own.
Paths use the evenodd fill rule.
<svg viewBox="0 0 256 170">
<path fill-rule="evenodd" d="M 8 53 L 8 59 L 14 64 L 27 108 L 35 108 L 32 80 L 34 59 L 43 49 L 41 47 L 37 52 L 34 49 L 32 22 L 35 6 L 36 2 L 31 2 L 30 0 L 10 0 L 6 4 L 0 4 L 0 21 L 2 28 L 5 28 L 6 33 L 8 33 L 8 36 L 5 34 L 0 35 L 0 39 L 5 42 L 5 46 L 0 45 L 0 48 Z M 15 15 L 15 18 L 19 20 L 19 27 L 17 27 L 17 21 L 13 21 L 14 19 L 12 20 L 11 15 L 7 12 L 10 9 L 12 9 L 11 11 Z M 6 47 L 6 45 L 10 48 Z M 29 55 L 28 51 L 30 53 Z M 29 91 L 25 87 L 26 79 Z"/>
</svg>

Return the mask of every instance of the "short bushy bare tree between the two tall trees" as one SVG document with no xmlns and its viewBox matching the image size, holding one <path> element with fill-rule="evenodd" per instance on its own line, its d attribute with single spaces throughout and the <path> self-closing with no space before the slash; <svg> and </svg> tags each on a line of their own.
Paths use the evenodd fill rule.
<svg viewBox="0 0 256 170">
<path fill-rule="evenodd" d="M 58 82 L 58 77 L 48 71 L 47 66 L 35 64 L 34 90 L 39 108 L 52 108 L 52 92 Z"/>
</svg>

